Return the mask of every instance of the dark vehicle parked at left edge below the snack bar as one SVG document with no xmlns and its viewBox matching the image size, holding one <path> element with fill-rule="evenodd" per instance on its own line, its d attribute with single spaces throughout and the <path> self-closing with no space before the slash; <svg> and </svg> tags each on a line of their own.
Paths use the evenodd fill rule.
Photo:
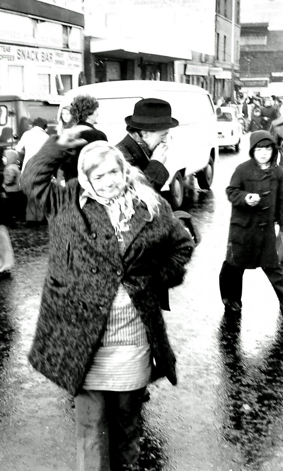
<svg viewBox="0 0 283 471">
<path fill-rule="evenodd" d="M 57 114 L 61 97 L 34 95 L 0 95 L 0 186 L 5 162 L 5 149 L 14 148 L 22 134 L 29 130 L 35 118 L 46 119 L 48 134 L 56 133 Z"/>
</svg>

